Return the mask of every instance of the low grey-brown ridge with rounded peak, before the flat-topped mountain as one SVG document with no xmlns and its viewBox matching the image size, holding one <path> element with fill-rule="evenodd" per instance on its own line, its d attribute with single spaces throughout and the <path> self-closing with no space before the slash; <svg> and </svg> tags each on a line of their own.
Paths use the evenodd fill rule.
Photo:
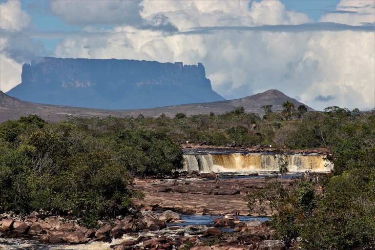
<svg viewBox="0 0 375 250">
<path fill-rule="evenodd" d="M 300 103 L 275 89 L 235 100 L 129 110 L 106 110 L 36 104 L 21 101 L 0 91 L 0 123 L 7 120 L 16 120 L 19 119 L 21 115 L 27 116 L 28 114 L 36 114 L 49 121 L 59 121 L 68 119 L 68 117 L 71 116 L 86 118 L 98 116 L 104 118 L 109 115 L 114 117 L 137 117 L 139 114 L 143 114 L 146 117 L 159 117 L 162 113 L 169 117 L 174 117 L 176 113 L 185 113 L 188 116 L 194 114 L 209 114 L 210 112 L 223 114 L 237 107 L 244 107 L 246 112 L 253 112 L 262 116 L 263 105 L 272 105 L 273 111 L 282 110 L 282 104 L 286 101 L 292 102 L 296 108 L 299 105 L 305 105 L 308 111 L 313 111 L 313 109 L 306 104 Z"/>
</svg>

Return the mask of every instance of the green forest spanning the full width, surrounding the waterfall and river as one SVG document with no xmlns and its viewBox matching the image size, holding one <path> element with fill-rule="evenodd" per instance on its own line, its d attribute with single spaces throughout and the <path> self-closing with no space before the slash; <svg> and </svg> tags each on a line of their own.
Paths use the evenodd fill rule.
<svg viewBox="0 0 375 250">
<path fill-rule="evenodd" d="M 319 185 L 277 180 L 248 197 L 271 201 L 271 227 L 280 239 L 301 237 L 305 249 L 352 249 L 375 245 L 375 110 L 337 106 L 307 112 L 284 103 L 259 117 L 237 108 L 225 114 L 174 118 L 68 117 L 50 123 L 36 115 L 0 124 L 0 212 L 42 209 L 72 214 L 86 226 L 127 214 L 142 193 L 135 177 L 158 177 L 183 167 L 181 144 L 326 147 L 332 173 Z M 327 248 L 327 246 L 332 246 Z"/>
</svg>

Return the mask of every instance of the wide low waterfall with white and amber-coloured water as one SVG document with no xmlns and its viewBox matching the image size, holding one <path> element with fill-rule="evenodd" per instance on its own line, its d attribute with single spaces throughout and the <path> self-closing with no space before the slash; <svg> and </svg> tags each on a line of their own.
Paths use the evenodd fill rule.
<svg viewBox="0 0 375 250">
<path fill-rule="evenodd" d="M 328 172 L 333 165 L 320 154 L 274 156 L 261 153 L 226 153 L 184 155 L 184 170 L 207 172 L 272 172 L 279 170 L 280 161 L 287 163 L 290 172 Z"/>
</svg>

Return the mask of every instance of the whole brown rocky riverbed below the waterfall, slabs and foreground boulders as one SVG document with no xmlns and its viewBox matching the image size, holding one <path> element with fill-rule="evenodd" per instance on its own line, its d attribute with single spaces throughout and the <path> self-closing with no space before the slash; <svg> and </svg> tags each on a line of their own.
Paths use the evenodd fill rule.
<svg viewBox="0 0 375 250">
<path fill-rule="evenodd" d="M 289 186 L 292 180 L 279 181 Z M 179 179 L 135 180 L 134 188 L 145 193 L 145 199 L 138 201 L 139 210 L 125 217 L 101 220 L 98 229 L 80 226 L 79 218 L 70 216 L 40 212 L 23 217 L 1 214 L 0 249 L 19 249 L 18 243 L 11 240 L 20 237 L 34 242 L 29 244 L 30 248 L 22 247 L 25 250 L 297 249 L 298 242 L 285 246 L 276 240 L 267 222 L 244 221 L 240 216 L 250 215 L 246 195 L 265 183 L 265 178 L 256 177 L 225 178 L 216 182 L 209 175 L 199 176 L 194 172 L 185 173 Z M 267 212 L 271 214 L 270 210 Z M 210 225 L 188 225 L 179 214 L 221 216 L 211 217 Z M 36 248 L 36 241 L 49 247 Z"/>
</svg>

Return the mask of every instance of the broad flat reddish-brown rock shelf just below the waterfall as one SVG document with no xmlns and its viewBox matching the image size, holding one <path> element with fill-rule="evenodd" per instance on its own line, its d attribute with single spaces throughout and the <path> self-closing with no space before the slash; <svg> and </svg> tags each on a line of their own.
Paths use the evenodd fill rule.
<svg viewBox="0 0 375 250">
<path fill-rule="evenodd" d="M 291 179 L 278 179 L 285 187 Z M 247 194 L 266 184 L 264 178 L 198 180 L 135 180 L 134 188 L 145 194 L 143 207 L 172 209 L 185 214 L 250 215 Z M 271 215 L 271 210 L 266 210 Z M 259 215 L 257 212 L 251 215 Z"/>
</svg>

